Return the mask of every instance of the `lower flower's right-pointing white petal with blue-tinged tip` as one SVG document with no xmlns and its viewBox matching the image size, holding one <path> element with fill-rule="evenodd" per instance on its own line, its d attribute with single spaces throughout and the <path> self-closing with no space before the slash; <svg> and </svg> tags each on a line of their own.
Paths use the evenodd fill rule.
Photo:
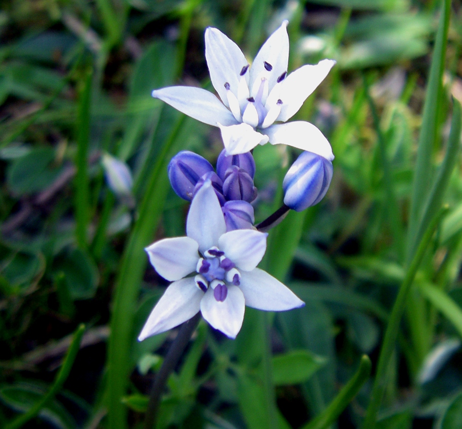
<svg viewBox="0 0 462 429">
<path fill-rule="evenodd" d="M 245 305 L 265 311 L 284 311 L 305 305 L 291 289 L 266 271 L 255 268 L 241 271 L 241 284 Z"/>
</svg>

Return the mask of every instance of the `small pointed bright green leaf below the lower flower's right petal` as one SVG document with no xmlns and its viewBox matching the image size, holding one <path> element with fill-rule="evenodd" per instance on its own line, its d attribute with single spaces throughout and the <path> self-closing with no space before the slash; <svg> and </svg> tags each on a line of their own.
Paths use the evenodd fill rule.
<svg viewBox="0 0 462 429">
<path fill-rule="evenodd" d="M 273 382 L 275 385 L 298 384 L 309 380 L 326 360 L 308 350 L 291 350 L 273 357 Z"/>
</svg>

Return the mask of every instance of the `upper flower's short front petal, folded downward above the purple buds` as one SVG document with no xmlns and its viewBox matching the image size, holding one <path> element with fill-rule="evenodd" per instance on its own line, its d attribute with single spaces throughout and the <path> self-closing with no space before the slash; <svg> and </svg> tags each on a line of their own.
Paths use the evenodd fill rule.
<svg viewBox="0 0 462 429">
<path fill-rule="evenodd" d="M 226 155 L 238 155 L 248 152 L 259 144 L 268 142 L 268 136 L 255 131 L 248 124 L 223 126 L 218 124 Z"/>
</svg>

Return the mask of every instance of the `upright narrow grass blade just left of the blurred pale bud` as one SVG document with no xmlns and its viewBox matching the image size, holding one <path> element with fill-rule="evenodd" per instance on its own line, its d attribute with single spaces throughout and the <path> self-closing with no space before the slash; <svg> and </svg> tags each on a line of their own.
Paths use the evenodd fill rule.
<svg viewBox="0 0 462 429">
<path fill-rule="evenodd" d="M 75 165 L 75 236 L 82 249 L 87 246 L 87 224 L 89 220 L 88 146 L 90 139 L 92 73 L 88 72 L 80 94 L 78 107 L 78 136 Z"/>
</svg>

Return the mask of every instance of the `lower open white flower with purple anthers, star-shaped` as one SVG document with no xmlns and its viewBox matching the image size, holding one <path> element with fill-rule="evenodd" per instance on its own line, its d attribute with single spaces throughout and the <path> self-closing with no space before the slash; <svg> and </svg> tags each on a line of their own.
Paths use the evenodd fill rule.
<svg viewBox="0 0 462 429">
<path fill-rule="evenodd" d="M 226 232 L 210 181 L 192 200 L 186 234 L 146 248 L 157 272 L 173 283 L 151 311 L 140 341 L 185 322 L 199 310 L 210 325 L 235 338 L 245 305 L 267 311 L 304 305 L 280 281 L 256 268 L 266 250 L 266 233 L 252 229 Z M 192 272 L 196 275 L 185 277 Z"/>
</svg>

